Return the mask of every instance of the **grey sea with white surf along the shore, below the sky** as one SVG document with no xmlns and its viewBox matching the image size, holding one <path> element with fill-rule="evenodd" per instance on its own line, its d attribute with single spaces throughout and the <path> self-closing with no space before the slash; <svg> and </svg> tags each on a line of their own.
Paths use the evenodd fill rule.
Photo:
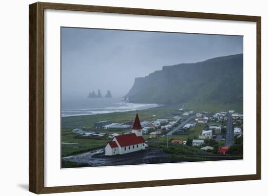
<svg viewBox="0 0 268 196">
<path fill-rule="evenodd" d="M 61 116 L 81 116 L 124 112 L 155 108 L 158 104 L 137 104 L 123 101 L 122 98 L 76 98 L 62 100 Z"/>
</svg>

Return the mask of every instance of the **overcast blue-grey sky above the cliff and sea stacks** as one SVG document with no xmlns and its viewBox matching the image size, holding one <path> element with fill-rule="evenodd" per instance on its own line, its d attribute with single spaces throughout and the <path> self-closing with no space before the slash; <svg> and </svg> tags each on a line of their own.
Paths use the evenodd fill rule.
<svg viewBox="0 0 268 196">
<path fill-rule="evenodd" d="M 122 97 L 165 65 L 195 63 L 243 53 L 242 36 L 61 28 L 63 98 L 98 89 Z"/>
</svg>

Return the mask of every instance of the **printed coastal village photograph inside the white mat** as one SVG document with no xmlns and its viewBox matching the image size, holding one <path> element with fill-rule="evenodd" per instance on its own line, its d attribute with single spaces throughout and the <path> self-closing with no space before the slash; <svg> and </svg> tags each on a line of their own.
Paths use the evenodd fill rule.
<svg viewBox="0 0 268 196">
<path fill-rule="evenodd" d="M 60 39 L 62 169 L 243 160 L 243 36 L 63 26 Z"/>
</svg>

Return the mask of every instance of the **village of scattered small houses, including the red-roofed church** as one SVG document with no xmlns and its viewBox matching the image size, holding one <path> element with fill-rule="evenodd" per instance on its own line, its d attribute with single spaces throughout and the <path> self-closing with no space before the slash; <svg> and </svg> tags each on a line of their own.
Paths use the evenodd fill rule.
<svg viewBox="0 0 268 196">
<path fill-rule="evenodd" d="M 156 149 L 163 150 L 167 156 L 183 154 L 185 157 L 187 155 L 188 159 L 193 161 L 214 160 L 215 155 L 227 157 L 227 155 L 243 154 L 243 114 L 235 113 L 234 110 L 209 113 L 183 108 L 178 109 L 178 112 L 179 115 L 171 118 L 157 118 L 153 114 L 152 117 L 156 118 L 153 121 L 140 121 L 136 112 L 134 121 L 131 122 L 113 122 L 107 119 L 95 122 L 94 128 L 90 130 L 75 128 L 71 131 L 77 141 L 88 139 L 88 142 L 100 142 L 100 145 L 96 144 L 93 151 L 84 152 L 90 153 L 91 158 L 88 160 L 92 161 L 94 158 L 105 160 L 93 166 L 98 166 L 99 163 L 101 163 L 99 165 L 109 165 L 109 160 L 113 162 L 114 159 L 120 159 L 123 154 L 126 159 L 127 154 L 142 154 L 145 157 L 147 152 L 152 154 Z M 76 145 L 76 143 L 62 143 L 64 144 Z M 100 146 L 102 148 L 99 148 Z M 194 159 L 190 158 L 192 154 L 195 156 Z M 198 154 L 202 158 L 196 158 Z M 157 155 L 155 156 L 157 158 Z M 208 158 L 209 156 L 211 159 Z M 78 153 L 63 157 L 62 160 L 80 163 L 85 161 L 79 157 Z M 218 160 L 218 157 L 215 159 Z M 163 161 L 167 162 L 167 158 Z M 124 161 L 121 162 L 123 164 Z"/>
</svg>

